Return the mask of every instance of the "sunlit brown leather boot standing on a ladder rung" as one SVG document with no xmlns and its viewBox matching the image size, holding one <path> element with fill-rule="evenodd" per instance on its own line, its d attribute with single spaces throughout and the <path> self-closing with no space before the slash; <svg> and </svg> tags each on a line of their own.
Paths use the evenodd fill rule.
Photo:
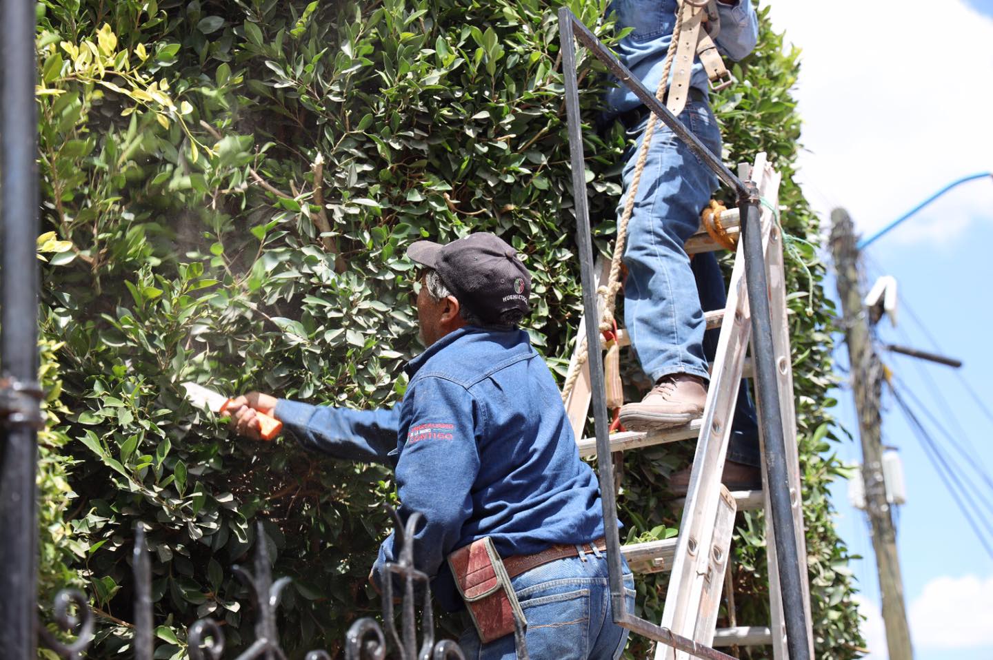
<svg viewBox="0 0 993 660">
<path fill-rule="evenodd" d="M 640 403 L 621 408 L 621 424 L 630 431 L 658 431 L 688 424 L 703 414 L 707 385 L 688 373 L 662 376 Z"/>
</svg>

